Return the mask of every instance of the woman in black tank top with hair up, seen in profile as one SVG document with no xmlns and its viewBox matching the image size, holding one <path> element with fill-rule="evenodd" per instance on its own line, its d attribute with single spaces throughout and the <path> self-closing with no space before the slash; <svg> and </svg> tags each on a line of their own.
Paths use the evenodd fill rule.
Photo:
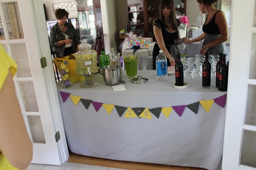
<svg viewBox="0 0 256 170">
<path fill-rule="evenodd" d="M 197 0 L 199 10 L 205 14 L 206 20 L 203 25 L 204 33 L 195 39 L 186 39 L 186 43 L 195 43 L 204 39 L 200 54 L 206 51 L 211 55 L 226 54 L 225 41 L 228 40 L 228 24 L 225 13 L 214 8 L 213 3 L 218 0 Z"/>
</svg>

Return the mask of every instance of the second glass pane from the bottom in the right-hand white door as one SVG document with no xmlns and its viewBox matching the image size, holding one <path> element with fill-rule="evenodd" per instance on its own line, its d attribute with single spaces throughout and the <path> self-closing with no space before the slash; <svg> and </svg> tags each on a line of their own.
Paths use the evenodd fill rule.
<svg viewBox="0 0 256 170">
<path fill-rule="evenodd" d="M 256 86 L 249 85 L 247 93 L 245 124 L 256 126 Z"/>
</svg>

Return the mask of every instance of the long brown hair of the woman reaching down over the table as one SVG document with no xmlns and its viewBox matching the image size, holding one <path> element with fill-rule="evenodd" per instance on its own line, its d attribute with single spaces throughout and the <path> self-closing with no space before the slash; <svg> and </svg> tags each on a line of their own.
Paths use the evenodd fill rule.
<svg viewBox="0 0 256 170">
<path fill-rule="evenodd" d="M 169 16 L 170 22 L 171 22 L 171 27 L 173 30 L 176 30 L 178 28 L 178 22 L 176 19 L 176 11 L 175 11 L 175 4 L 173 0 L 161 0 L 159 4 L 159 16 L 160 20 L 164 23 L 164 27 L 168 27 L 167 23 L 164 19 L 164 15 L 162 13 L 162 8 L 164 7 L 170 7 L 171 8 L 171 14 Z"/>
</svg>

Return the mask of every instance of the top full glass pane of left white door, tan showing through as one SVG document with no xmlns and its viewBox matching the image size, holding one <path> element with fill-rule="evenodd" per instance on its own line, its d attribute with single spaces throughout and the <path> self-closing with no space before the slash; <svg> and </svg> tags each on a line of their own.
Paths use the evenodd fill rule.
<svg viewBox="0 0 256 170">
<path fill-rule="evenodd" d="M 18 2 L 3 3 L 4 16 L 10 39 L 24 39 Z"/>
</svg>

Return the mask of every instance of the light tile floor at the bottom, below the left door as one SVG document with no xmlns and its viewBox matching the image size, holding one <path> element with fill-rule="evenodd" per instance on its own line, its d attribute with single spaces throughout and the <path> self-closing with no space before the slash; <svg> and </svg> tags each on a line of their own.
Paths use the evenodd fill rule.
<svg viewBox="0 0 256 170">
<path fill-rule="evenodd" d="M 30 164 L 26 170 L 125 170 L 125 169 L 65 162 L 61 166 L 58 166 L 58 165 L 43 165 L 43 164 Z"/>
</svg>

